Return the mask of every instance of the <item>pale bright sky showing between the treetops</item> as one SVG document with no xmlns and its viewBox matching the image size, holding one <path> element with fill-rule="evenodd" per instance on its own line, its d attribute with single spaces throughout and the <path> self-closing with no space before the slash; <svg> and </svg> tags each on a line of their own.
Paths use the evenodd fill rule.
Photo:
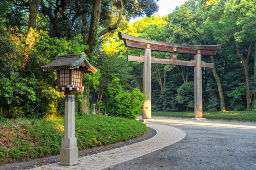
<svg viewBox="0 0 256 170">
<path fill-rule="evenodd" d="M 158 4 L 159 6 L 159 10 L 154 15 L 160 16 L 160 17 L 167 15 L 171 13 L 176 6 L 180 6 L 184 4 L 185 1 L 186 0 L 159 0 L 158 2 L 156 2 L 156 4 Z M 143 17 L 131 18 L 130 23 L 134 23 L 142 18 Z"/>
</svg>

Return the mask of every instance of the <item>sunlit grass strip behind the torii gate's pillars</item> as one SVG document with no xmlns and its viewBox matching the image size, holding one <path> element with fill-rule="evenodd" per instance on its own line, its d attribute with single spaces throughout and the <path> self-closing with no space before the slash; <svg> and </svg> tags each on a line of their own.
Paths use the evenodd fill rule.
<svg viewBox="0 0 256 170">
<path fill-rule="evenodd" d="M 152 116 L 194 118 L 194 112 L 151 112 Z M 203 118 L 236 121 L 256 121 L 255 111 L 203 112 Z"/>
</svg>

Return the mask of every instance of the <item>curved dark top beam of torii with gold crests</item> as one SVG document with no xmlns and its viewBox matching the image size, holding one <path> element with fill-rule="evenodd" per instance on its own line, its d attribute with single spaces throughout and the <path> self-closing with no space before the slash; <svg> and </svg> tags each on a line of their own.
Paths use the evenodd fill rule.
<svg viewBox="0 0 256 170">
<path fill-rule="evenodd" d="M 163 52 L 175 52 L 182 54 L 198 54 L 201 55 L 216 55 L 216 51 L 220 50 L 222 45 L 186 45 L 186 44 L 174 44 L 169 42 L 148 40 L 139 38 L 136 36 L 128 35 L 119 32 L 118 37 L 124 41 L 126 47 L 132 47 L 136 49 L 148 49 L 153 51 Z"/>
</svg>

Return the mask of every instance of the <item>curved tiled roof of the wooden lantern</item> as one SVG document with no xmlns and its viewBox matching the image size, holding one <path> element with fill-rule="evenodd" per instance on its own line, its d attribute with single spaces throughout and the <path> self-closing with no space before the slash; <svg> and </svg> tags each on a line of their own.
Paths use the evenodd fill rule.
<svg viewBox="0 0 256 170">
<path fill-rule="evenodd" d="M 87 60 L 84 52 L 78 54 L 57 55 L 55 60 L 41 66 L 43 71 L 46 70 L 63 70 L 63 69 L 80 69 L 85 73 L 96 73 L 98 70 L 94 68 Z"/>
</svg>

